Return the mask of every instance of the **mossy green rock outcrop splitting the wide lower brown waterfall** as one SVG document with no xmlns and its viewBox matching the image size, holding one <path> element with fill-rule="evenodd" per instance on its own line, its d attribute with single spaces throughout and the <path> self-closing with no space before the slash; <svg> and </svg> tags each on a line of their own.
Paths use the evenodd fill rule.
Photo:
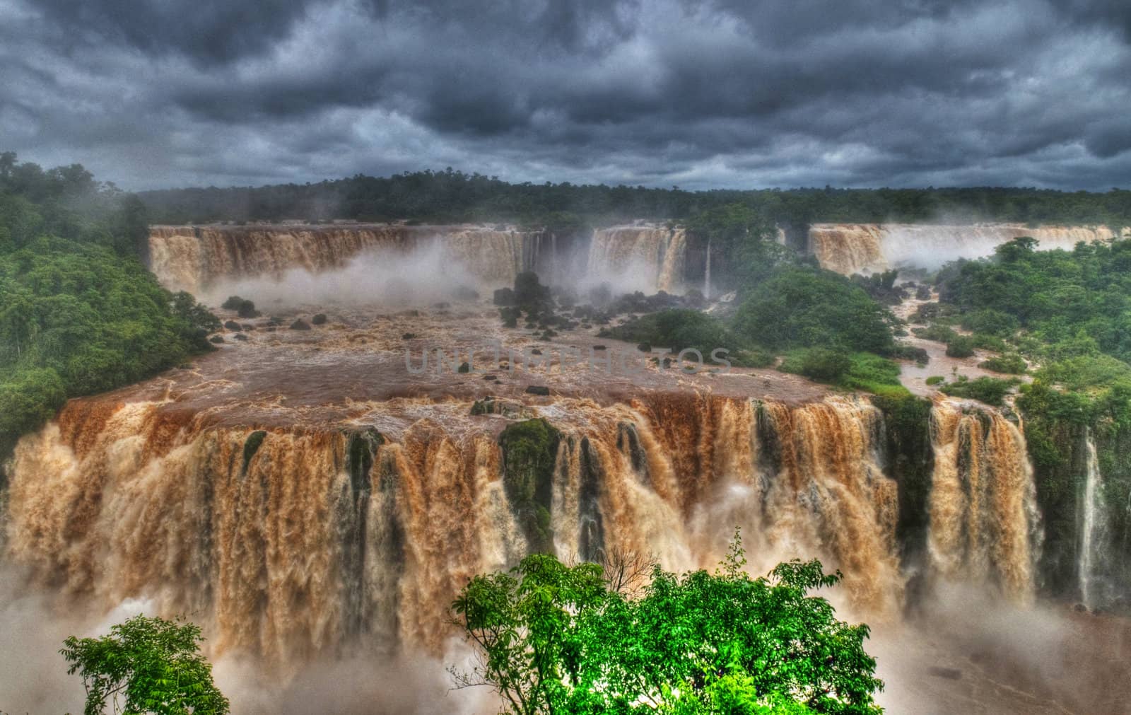
<svg viewBox="0 0 1131 715">
<path fill-rule="evenodd" d="M 499 436 L 503 491 L 532 551 L 553 551 L 547 517 L 559 440 L 545 420 L 513 422 Z"/>
</svg>

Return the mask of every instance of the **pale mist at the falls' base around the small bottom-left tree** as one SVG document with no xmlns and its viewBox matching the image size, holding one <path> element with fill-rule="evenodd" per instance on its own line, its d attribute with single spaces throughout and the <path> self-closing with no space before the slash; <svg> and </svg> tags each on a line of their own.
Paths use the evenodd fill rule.
<svg viewBox="0 0 1131 715">
<path fill-rule="evenodd" d="M 0 713 L 50 715 L 80 713 L 86 694 L 79 675 L 68 675 L 59 654 L 69 636 L 97 637 L 153 604 L 128 600 L 109 612 L 85 609 L 76 600 L 25 586 L 19 569 L 0 565 Z M 208 634 L 204 651 L 208 653 Z M 494 712 L 489 688 L 451 690 L 448 664 L 470 666 L 468 648 L 449 641 L 442 658 L 385 655 L 323 658 L 290 675 L 254 657 L 221 655 L 214 661 L 216 686 L 232 703 L 233 715 L 398 715 Z"/>
</svg>

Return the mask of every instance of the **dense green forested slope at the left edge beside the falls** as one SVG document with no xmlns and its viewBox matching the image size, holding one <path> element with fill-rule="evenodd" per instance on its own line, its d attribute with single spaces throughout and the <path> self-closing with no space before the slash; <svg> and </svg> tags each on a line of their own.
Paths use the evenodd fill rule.
<svg viewBox="0 0 1131 715">
<path fill-rule="evenodd" d="M 81 166 L 0 171 L 0 464 L 67 397 L 208 348 L 218 321 L 157 284 L 136 256 L 139 226 L 147 236 L 136 200 Z"/>
</svg>

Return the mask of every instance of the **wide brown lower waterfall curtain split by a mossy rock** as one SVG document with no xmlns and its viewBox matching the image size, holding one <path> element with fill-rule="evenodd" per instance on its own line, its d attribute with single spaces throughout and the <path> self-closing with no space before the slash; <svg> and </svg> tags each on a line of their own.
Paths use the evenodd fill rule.
<svg viewBox="0 0 1131 715">
<path fill-rule="evenodd" d="M 357 641 L 435 651 L 458 588 L 527 549 L 500 446 L 476 419 L 454 431 L 457 406 L 469 412 L 438 405 L 392 429 L 380 412 L 253 429 L 175 400 L 71 402 L 17 448 L 9 557 L 77 598 L 192 613 L 217 653 L 285 663 Z M 759 569 L 820 555 L 861 612 L 898 613 L 897 485 L 866 402 L 657 395 L 535 413 L 562 432 L 550 509 L 560 555 L 618 549 L 713 567 L 737 525 Z"/>
</svg>

